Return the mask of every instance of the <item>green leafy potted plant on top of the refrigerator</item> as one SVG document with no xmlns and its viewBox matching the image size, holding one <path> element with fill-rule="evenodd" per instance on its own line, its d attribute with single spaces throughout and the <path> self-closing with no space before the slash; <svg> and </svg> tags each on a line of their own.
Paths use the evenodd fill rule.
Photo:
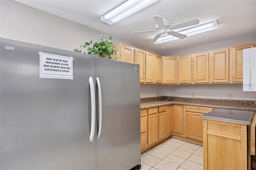
<svg viewBox="0 0 256 170">
<path fill-rule="evenodd" d="M 108 59 L 112 59 L 111 55 L 114 53 L 116 54 L 116 51 L 118 49 L 115 49 L 113 47 L 113 43 L 111 42 L 112 36 L 106 40 L 104 37 L 106 35 L 102 34 L 100 35 L 102 37 L 98 42 L 92 43 L 92 40 L 90 42 L 85 42 L 84 45 L 80 46 L 80 49 L 73 49 L 75 52 L 82 53 L 83 49 L 87 47 L 87 53 L 90 55 L 94 55 L 96 57 L 105 57 Z M 84 52 L 86 54 L 86 52 Z M 118 59 L 118 57 L 115 57 L 114 60 Z"/>
</svg>

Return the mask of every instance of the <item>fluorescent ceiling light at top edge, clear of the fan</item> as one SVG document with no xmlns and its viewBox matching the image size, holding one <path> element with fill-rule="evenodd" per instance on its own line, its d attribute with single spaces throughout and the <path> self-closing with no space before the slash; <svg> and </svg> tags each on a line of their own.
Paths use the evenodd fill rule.
<svg viewBox="0 0 256 170">
<path fill-rule="evenodd" d="M 110 25 L 142 10 L 158 0 L 126 0 L 110 12 L 101 16 L 101 20 Z"/>
</svg>

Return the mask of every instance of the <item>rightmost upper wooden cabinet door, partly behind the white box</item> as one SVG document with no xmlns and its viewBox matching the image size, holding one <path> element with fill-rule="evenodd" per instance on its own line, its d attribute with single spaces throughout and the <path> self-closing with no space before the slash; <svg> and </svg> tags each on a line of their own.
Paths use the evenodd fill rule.
<svg viewBox="0 0 256 170">
<path fill-rule="evenodd" d="M 233 49 L 233 82 L 243 82 L 243 49 L 252 48 L 254 44 L 243 45 Z"/>
</svg>

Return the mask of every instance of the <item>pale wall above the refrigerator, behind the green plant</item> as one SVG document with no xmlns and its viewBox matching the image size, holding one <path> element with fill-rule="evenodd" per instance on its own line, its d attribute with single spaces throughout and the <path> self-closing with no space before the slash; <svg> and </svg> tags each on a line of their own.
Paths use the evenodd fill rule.
<svg viewBox="0 0 256 170">
<path fill-rule="evenodd" d="M 97 42 L 100 34 L 109 34 L 60 18 L 12 0 L 0 0 L 0 36 L 22 42 L 35 43 L 73 51 L 84 42 Z M 107 37 L 108 38 L 108 37 Z M 156 53 L 122 38 L 112 36 L 114 44 L 124 43 Z"/>
</svg>

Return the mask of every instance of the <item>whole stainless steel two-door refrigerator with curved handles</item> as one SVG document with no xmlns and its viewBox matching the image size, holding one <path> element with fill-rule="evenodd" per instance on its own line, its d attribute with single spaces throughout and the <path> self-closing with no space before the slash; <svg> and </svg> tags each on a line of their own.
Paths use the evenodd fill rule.
<svg viewBox="0 0 256 170">
<path fill-rule="evenodd" d="M 0 41 L 0 169 L 140 168 L 138 65 Z M 72 58 L 72 78 L 40 77 L 40 53 Z"/>
</svg>

